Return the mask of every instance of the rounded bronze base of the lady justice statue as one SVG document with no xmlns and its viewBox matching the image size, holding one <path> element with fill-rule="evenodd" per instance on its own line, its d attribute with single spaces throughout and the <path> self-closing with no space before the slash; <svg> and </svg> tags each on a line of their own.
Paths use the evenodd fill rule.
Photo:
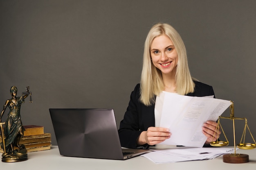
<svg viewBox="0 0 256 170">
<path fill-rule="evenodd" d="M 27 150 L 24 145 L 19 150 L 14 150 L 11 153 L 2 154 L 2 162 L 20 162 L 27 160 Z"/>
</svg>

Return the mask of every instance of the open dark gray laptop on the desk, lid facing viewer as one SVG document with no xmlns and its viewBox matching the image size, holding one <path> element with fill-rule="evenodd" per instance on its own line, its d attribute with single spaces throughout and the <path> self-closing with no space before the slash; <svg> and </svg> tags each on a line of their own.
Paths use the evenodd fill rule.
<svg viewBox="0 0 256 170">
<path fill-rule="evenodd" d="M 121 148 L 113 109 L 49 109 L 60 154 L 124 160 L 148 152 Z"/>
</svg>

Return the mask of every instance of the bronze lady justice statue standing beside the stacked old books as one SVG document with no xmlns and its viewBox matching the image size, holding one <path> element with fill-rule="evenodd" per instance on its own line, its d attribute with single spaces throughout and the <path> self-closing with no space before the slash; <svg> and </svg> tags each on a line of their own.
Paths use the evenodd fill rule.
<svg viewBox="0 0 256 170">
<path fill-rule="evenodd" d="M 20 107 L 22 102 L 24 102 L 24 99 L 27 98 L 29 94 L 30 102 L 32 102 L 29 87 L 26 87 L 26 90 L 26 92 L 22 92 L 22 96 L 16 97 L 18 89 L 17 87 L 12 86 L 10 89 L 11 99 L 6 100 L 4 104 L 4 109 L 2 110 L 0 115 L 0 126 L 2 131 L 1 146 L 4 150 L 4 153 L 2 154 L 3 162 L 17 162 L 27 160 L 27 150 L 25 146 L 19 145 L 20 139 L 23 137 L 25 131 L 20 119 Z M 9 107 L 10 110 L 7 115 L 6 121 L 2 122 L 1 118 L 7 107 Z M 5 124 L 4 135 L 2 129 L 3 124 Z M 15 149 L 14 147 L 17 147 L 18 149 Z"/>
</svg>

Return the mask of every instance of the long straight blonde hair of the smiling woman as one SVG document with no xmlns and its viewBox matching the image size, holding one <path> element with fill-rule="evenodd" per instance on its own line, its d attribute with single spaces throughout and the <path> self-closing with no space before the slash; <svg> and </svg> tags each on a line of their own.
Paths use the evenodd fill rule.
<svg viewBox="0 0 256 170">
<path fill-rule="evenodd" d="M 149 31 L 144 44 L 143 66 L 141 72 L 140 101 L 150 106 L 155 102 L 155 95 L 159 95 L 164 90 L 162 73 L 157 69 L 150 57 L 150 47 L 155 37 L 160 35 L 168 36 L 178 54 L 176 69 L 176 92 L 180 95 L 186 95 L 194 92 L 195 84 L 189 72 L 189 65 L 186 56 L 186 48 L 180 37 L 180 34 L 169 24 L 155 24 Z"/>
</svg>

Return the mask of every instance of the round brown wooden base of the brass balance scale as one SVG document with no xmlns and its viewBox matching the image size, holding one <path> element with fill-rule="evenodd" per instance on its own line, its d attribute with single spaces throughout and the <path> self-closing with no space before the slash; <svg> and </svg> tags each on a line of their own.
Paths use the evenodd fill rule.
<svg viewBox="0 0 256 170">
<path fill-rule="evenodd" d="M 223 155 L 223 162 L 225 162 L 225 163 L 247 163 L 247 162 L 249 162 L 249 155 L 225 154 L 225 155 Z"/>
</svg>

